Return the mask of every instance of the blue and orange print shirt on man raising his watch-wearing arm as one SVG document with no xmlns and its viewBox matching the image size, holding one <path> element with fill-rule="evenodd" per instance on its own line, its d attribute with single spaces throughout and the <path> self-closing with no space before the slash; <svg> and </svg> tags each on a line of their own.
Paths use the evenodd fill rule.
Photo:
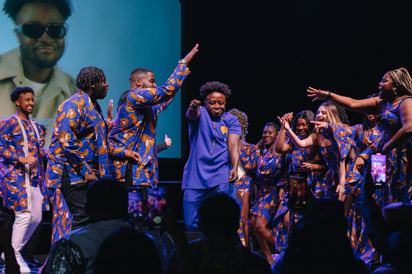
<svg viewBox="0 0 412 274">
<path fill-rule="evenodd" d="M 119 107 L 115 125 L 110 132 L 110 144 L 140 154 L 140 165 L 133 164 L 133 184 L 157 184 L 156 124 L 157 113 L 164 111 L 175 97 L 190 70 L 178 64 L 173 74 L 161 87 L 135 88 L 127 102 Z M 124 181 L 127 160 L 110 159 L 110 174 Z"/>
</svg>

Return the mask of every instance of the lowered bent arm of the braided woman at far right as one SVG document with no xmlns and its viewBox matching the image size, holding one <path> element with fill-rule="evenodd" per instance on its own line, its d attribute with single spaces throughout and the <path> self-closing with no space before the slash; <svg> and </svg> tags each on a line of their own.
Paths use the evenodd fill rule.
<svg viewBox="0 0 412 274">
<path fill-rule="evenodd" d="M 399 115 L 402 128 L 383 147 L 383 152 L 389 152 L 405 140 L 412 137 L 412 98 L 404 99 L 399 106 Z"/>
</svg>

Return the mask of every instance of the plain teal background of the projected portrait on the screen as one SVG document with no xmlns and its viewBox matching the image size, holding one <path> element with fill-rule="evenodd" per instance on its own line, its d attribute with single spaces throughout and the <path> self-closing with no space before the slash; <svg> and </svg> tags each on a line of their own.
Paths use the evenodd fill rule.
<svg viewBox="0 0 412 274">
<path fill-rule="evenodd" d="M 66 21 L 66 50 L 57 64 L 74 78 L 83 67 L 103 69 L 109 90 L 98 102 L 104 114 L 110 99 L 116 111 L 133 69 L 152 70 L 158 86 L 166 82 L 180 59 L 178 0 L 72 0 L 72 5 L 74 13 Z M 1 13 L 0 54 L 18 46 L 12 28 Z M 181 157 L 180 98 L 178 92 L 166 111 L 157 115 L 156 143 L 162 143 L 165 134 L 172 139 L 159 158 Z"/>
</svg>

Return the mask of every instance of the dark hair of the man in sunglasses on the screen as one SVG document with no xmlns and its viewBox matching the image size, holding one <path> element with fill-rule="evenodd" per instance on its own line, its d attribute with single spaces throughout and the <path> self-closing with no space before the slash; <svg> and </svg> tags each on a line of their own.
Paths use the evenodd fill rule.
<svg viewBox="0 0 412 274">
<path fill-rule="evenodd" d="M 16 23 L 16 16 L 21 8 L 30 3 L 47 3 L 51 4 L 59 11 L 64 20 L 70 17 L 73 8 L 70 0 L 6 0 L 3 5 L 3 12 Z"/>
</svg>

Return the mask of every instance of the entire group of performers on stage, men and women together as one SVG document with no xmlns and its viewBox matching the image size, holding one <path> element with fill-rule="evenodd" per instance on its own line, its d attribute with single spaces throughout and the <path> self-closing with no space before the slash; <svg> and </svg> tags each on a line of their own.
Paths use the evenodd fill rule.
<svg viewBox="0 0 412 274">
<path fill-rule="evenodd" d="M 39 200 L 42 210 L 47 210 L 48 197 L 53 197 L 50 200 L 54 242 L 88 223 L 85 193 L 94 180 L 108 175 L 116 177 L 126 187 L 142 187 L 143 198 L 147 187 L 156 186 L 156 114 L 169 105 L 190 74 L 187 64 L 196 52 L 197 46 L 179 61 L 162 87 L 156 86 L 152 71 L 132 71 L 131 88 L 126 92 L 127 100 L 119 105 L 114 125 L 104 119 L 96 102 L 108 90 L 103 71 L 95 67 L 82 69 L 76 79 L 78 92 L 59 106 L 49 150 L 42 147 L 46 129 L 29 118 L 34 106 L 33 90 L 18 87 L 12 92 L 17 113 L 0 123 L 0 194 L 5 207 L 15 212 L 12 245 L 20 266 L 24 263 L 19 251 L 41 221 L 41 209 L 34 208 L 41 204 Z M 208 84 L 206 88 L 213 90 L 213 85 L 221 83 Z M 305 171 L 315 198 L 344 202 L 348 237 L 355 255 L 367 263 L 378 262 L 380 256 L 368 240 L 363 223 L 360 186 L 370 155 L 379 151 L 388 156 L 389 182 L 384 189 L 375 191 L 376 203 L 383 207 L 408 202 L 412 196 L 412 79 L 406 69 L 389 71 L 379 83 L 379 90 L 379 94 L 371 94 L 367 99 L 354 100 L 309 88 L 309 97 L 328 101 L 316 113 L 305 110 L 277 117 L 281 127 L 268 122 L 256 145 L 246 143 L 247 115 L 237 109 L 224 112 L 230 90 L 226 89 L 227 94 L 205 93 L 205 103 L 209 98 L 214 100 L 213 104 L 220 104 L 220 99 L 212 100 L 211 96 L 222 97 L 222 104 L 215 109 L 210 102 L 204 108 L 200 101 L 194 100 L 187 111 L 187 120 L 190 143 L 196 144 L 197 150 L 191 149 L 182 186 L 188 230 L 197 230 L 199 197 L 210 191 L 234 193 L 241 207 L 238 230 L 241 242 L 250 246 L 253 235 L 272 264 L 269 245 L 278 251 L 287 246 L 293 220 L 293 212 L 288 208 L 287 174 Z M 363 124 L 349 126 L 344 108 L 363 113 Z M 238 135 L 237 139 L 234 135 Z M 213 143 L 211 149 L 206 141 L 209 138 Z M 231 148 L 238 142 L 239 165 L 236 149 Z M 229 156 L 219 159 L 220 150 Z M 236 157 L 231 154 L 233 151 Z M 226 163 L 230 158 L 232 166 L 237 166 L 237 175 L 230 170 L 227 181 L 227 167 L 222 169 L 222 175 L 212 169 L 208 171 L 208 164 L 199 162 L 205 157 L 213 158 L 214 164 Z M 39 159 L 45 159 L 47 164 Z M 213 168 L 212 164 L 209 167 Z M 204 180 L 194 179 L 196 176 Z"/>
</svg>

